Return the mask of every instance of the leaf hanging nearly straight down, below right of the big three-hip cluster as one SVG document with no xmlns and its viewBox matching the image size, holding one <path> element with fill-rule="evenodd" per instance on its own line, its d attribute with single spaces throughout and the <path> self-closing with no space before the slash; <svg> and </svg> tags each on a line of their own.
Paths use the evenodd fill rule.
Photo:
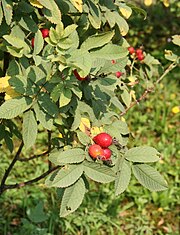
<svg viewBox="0 0 180 235">
<path fill-rule="evenodd" d="M 115 195 L 123 193 L 129 185 L 131 179 L 131 167 L 129 162 L 123 160 L 115 179 Z"/>
</svg>

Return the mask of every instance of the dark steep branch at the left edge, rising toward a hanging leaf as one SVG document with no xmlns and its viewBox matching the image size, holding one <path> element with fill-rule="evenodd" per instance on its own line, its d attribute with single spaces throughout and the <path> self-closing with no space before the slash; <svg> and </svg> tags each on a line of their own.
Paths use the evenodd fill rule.
<svg viewBox="0 0 180 235">
<path fill-rule="evenodd" d="M 18 151 L 16 152 L 16 155 L 14 156 L 14 158 L 13 158 L 11 164 L 9 165 L 9 167 L 7 168 L 7 170 L 6 170 L 5 173 L 4 173 L 4 176 L 3 176 L 2 180 L 1 180 L 1 185 L 0 185 L 0 194 L 2 194 L 3 191 L 4 191 L 5 182 L 6 182 L 7 178 L 8 178 L 8 176 L 9 176 L 9 174 L 10 174 L 10 172 L 11 172 L 13 166 L 14 166 L 15 163 L 17 162 L 17 160 L 18 160 L 18 158 L 19 158 L 19 155 L 20 155 L 20 153 L 21 153 L 21 151 L 22 151 L 23 146 L 24 146 L 24 144 L 23 144 L 23 142 L 21 142 L 21 144 L 20 144 L 20 146 L 19 146 L 19 149 L 18 149 Z"/>
</svg>

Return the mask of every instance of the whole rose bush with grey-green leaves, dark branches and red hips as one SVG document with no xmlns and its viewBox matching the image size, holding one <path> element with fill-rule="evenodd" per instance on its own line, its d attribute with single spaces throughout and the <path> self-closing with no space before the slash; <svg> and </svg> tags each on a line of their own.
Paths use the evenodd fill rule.
<svg viewBox="0 0 180 235">
<path fill-rule="evenodd" d="M 61 194 L 64 217 L 80 206 L 90 180 L 114 182 L 116 196 L 126 190 L 131 174 L 151 191 L 167 189 L 148 164 L 158 161 L 160 153 L 150 146 L 129 149 L 130 130 L 123 116 L 153 91 L 179 57 L 169 52 L 172 64 L 163 72 L 145 50 L 141 58 L 129 53 L 125 36 L 133 10 L 144 13 L 123 1 L 0 1 L 0 139 L 14 154 L 2 174 L 1 193 L 48 176 L 45 185 Z M 179 44 L 178 36 L 173 40 Z M 144 92 L 135 92 L 136 86 Z M 22 149 L 35 148 L 40 128 L 47 132 L 47 150 L 37 157 L 47 156 L 47 171 L 7 184 Z M 100 133 L 112 142 L 100 146 Z M 94 145 L 102 151 L 108 147 L 105 159 L 110 161 L 101 158 L 104 152 L 90 151 Z"/>
</svg>

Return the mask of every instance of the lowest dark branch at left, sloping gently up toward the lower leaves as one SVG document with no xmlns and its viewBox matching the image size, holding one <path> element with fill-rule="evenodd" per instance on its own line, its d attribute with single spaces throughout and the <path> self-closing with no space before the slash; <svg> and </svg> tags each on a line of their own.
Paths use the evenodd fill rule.
<svg viewBox="0 0 180 235">
<path fill-rule="evenodd" d="M 30 184 L 36 183 L 39 180 L 45 178 L 47 175 L 49 175 L 53 171 L 57 170 L 59 167 L 60 166 L 55 166 L 55 167 L 51 168 L 50 170 L 47 170 L 46 172 L 44 172 L 42 175 L 40 175 L 40 176 L 38 176 L 38 177 L 36 177 L 36 178 L 34 178 L 32 180 L 28 180 L 28 181 L 25 181 L 25 182 L 22 182 L 22 183 L 17 183 L 17 184 L 4 185 L 2 192 L 4 192 L 5 190 L 8 190 L 8 189 L 21 188 L 21 187 L 24 187 L 26 185 L 30 185 Z"/>
</svg>

